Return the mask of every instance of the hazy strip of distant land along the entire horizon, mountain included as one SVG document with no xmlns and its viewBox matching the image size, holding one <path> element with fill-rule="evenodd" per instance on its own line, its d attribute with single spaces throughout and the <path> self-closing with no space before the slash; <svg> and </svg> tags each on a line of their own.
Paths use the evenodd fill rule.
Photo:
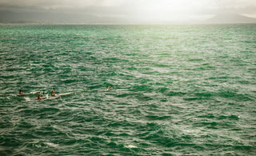
<svg viewBox="0 0 256 156">
<path fill-rule="evenodd" d="M 235 24 L 235 23 L 256 23 L 256 18 L 249 18 L 240 14 L 216 14 L 212 18 L 206 20 L 195 21 L 182 19 L 177 21 L 158 22 L 154 21 L 139 21 L 132 18 L 120 17 L 97 17 L 94 15 L 82 16 L 79 14 L 58 14 L 58 13 L 44 13 L 44 14 L 29 14 L 17 12 L 0 11 L 0 23 L 40 23 L 40 24 Z"/>
</svg>

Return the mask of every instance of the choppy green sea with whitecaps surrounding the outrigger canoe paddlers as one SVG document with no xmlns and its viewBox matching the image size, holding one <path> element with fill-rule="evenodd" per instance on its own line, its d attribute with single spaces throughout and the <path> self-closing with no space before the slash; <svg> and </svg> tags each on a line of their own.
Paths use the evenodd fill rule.
<svg viewBox="0 0 256 156">
<path fill-rule="evenodd" d="M 0 155 L 256 154 L 256 25 L 0 26 L 0 60 Z"/>
</svg>

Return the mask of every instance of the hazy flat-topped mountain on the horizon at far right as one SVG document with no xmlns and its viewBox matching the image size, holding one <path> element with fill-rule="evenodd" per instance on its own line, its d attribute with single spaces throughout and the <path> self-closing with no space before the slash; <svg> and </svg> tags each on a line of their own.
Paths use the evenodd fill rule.
<svg viewBox="0 0 256 156">
<path fill-rule="evenodd" d="M 206 19 L 206 23 L 256 23 L 256 18 L 248 18 L 239 14 L 217 14 Z"/>
</svg>

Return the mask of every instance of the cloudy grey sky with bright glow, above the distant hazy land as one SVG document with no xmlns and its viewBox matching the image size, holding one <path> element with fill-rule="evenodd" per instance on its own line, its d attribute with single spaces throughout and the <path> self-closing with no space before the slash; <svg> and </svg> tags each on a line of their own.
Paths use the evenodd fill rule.
<svg viewBox="0 0 256 156">
<path fill-rule="evenodd" d="M 214 14 L 256 18 L 256 0 L 0 0 L 0 20 L 180 22 Z"/>
</svg>

